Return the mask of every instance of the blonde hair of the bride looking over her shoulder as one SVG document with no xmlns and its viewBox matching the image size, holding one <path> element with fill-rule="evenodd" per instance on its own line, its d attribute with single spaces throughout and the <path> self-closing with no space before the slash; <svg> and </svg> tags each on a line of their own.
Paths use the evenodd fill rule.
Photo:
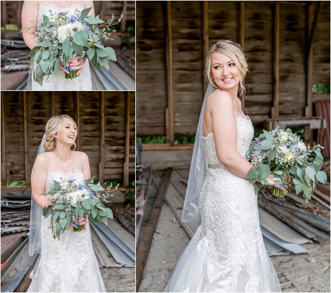
<svg viewBox="0 0 331 293">
<path fill-rule="evenodd" d="M 220 89 L 219 86 L 215 83 L 212 73 L 212 59 L 214 53 L 222 53 L 226 56 L 229 56 L 234 63 L 236 64 L 239 72 L 240 72 L 240 82 L 238 85 L 238 93 L 241 97 L 245 92 L 244 80 L 246 73 L 248 71 L 247 59 L 244 54 L 244 49 L 240 44 L 234 43 L 230 40 L 221 39 L 217 41 L 215 44 L 211 45 L 208 50 L 207 58 L 206 58 L 206 69 L 205 75 L 209 83 L 213 86 L 214 89 Z M 239 63 L 238 63 L 239 61 Z"/>
</svg>

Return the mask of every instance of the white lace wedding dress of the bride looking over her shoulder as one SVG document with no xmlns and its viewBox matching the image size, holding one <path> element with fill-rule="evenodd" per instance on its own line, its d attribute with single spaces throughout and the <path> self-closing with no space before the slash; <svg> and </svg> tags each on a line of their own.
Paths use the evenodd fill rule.
<svg viewBox="0 0 331 293">
<path fill-rule="evenodd" d="M 237 150 L 245 157 L 254 128 L 251 120 L 241 116 L 236 123 Z M 200 198 L 201 226 L 165 292 L 280 292 L 264 247 L 252 184 L 219 162 L 212 132 L 202 139 L 207 175 Z"/>
</svg>

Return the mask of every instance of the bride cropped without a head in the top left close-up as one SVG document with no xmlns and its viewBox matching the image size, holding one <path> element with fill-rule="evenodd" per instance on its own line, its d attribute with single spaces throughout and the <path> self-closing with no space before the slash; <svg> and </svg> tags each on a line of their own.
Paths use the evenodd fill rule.
<svg viewBox="0 0 331 293">
<path fill-rule="evenodd" d="M 89 15 L 95 16 L 93 1 L 24 1 L 22 7 L 22 27 L 38 26 L 36 22 L 41 23 L 43 21 L 43 15 L 50 16 L 49 10 L 53 14 L 61 11 L 75 12 L 75 10 L 82 11 L 85 8 L 92 7 Z M 32 49 L 37 43 L 38 38 L 33 38 L 35 28 L 23 32 L 23 39 L 25 44 Z M 28 76 L 28 89 L 32 90 L 61 90 L 61 91 L 91 91 L 92 90 L 92 78 L 90 65 L 87 58 L 81 56 L 75 56 L 68 61 L 66 66 L 61 62 L 60 69 L 56 75 L 49 75 L 49 78 L 44 77 L 43 85 L 40 86 L 37 82 L 33 81 L 33 76 L 30 70 Z M 65 79 L 65 72 L 69 73 L 65 67 L 71 67 L 71 69 L 77 70 L 76 75 L 79 78 Z M 84 69 L 83 69 L 84 68 Z"/>
</svg>

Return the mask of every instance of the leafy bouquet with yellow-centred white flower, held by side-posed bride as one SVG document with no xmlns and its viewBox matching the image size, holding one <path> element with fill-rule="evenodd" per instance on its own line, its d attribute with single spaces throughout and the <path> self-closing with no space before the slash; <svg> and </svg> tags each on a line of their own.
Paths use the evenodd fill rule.
<svg viewBox="0 0 331 293">
<path fill-rule="evenodd" d="M 303 132 L 303 130 L 299 131 Z M 258 138 L 253 139 L 246 159 L 254 166 L 247 174 L 247 179 L 255 185 L 255 192 L 259 187 L 266 188 L 266 183 L 280 183 L 288 188 L 291 179 L 295 184 L 296 193 L 304 191 L 304 198 L 308 202 L 316 188 L 316 183 L 326 183 L 326 174 L 321 171 L 323 146 L 306 146 L 290 128 L 272 131 L 263 130 Z M 266 179 L 273 172 L 274 178 Z M 260 182 L 256 180 L 259 179 Z M 284 199 L 287 191 L 273 188 L 272 194 Z"/>
</svg>

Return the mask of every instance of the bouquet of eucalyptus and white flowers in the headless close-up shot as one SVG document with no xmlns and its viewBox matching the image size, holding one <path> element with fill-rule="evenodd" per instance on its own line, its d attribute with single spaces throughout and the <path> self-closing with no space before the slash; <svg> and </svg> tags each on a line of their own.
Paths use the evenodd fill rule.
<svg viewBox="0 0 331 293">
<path fill-rule="evenodd" d="M 120 16 L 117 23 L 112 24 L 114 14 L 111 20 L 107 22 L 99 19 L 99 16 L 88 16 L 90 8 L 81 12 L 77 9 L 75 13 L 59 12 L 50 17 L 43 15 L 43 22 L 37 22 L 33 37 L 38 37 L 38 43 L 30 52 L 30 67 L 33 70 L 33 80 L 42 86 L 44 76 L 52 73 L 57 74 L 60 62 L 66 64 L 72 57 L 80 55 L 91 60 L 92 67 L 97 70 L 98 67 L 105 66 L 109 69 L 109 59 L 116 61 L 114 49 L 104 47 L 101 39 L 112 40 L 106 28 L 120 22 L 123 15 Z M 34 21 L 30 21 L 34 22 Z M 103 23 L 103 24 L 100 24 Z M 100 25 L 98 25 L 100 24 Z M 27 31 L 31 27 L 25 27 L 21 30 Z M 115 32 L 115 30 L 111 30 Z M 66 78 L 75 78 L 76 70 L 66 67 L 67 70 L 73 70 L 74 73 L 65 73 Z"/>
</svg>

